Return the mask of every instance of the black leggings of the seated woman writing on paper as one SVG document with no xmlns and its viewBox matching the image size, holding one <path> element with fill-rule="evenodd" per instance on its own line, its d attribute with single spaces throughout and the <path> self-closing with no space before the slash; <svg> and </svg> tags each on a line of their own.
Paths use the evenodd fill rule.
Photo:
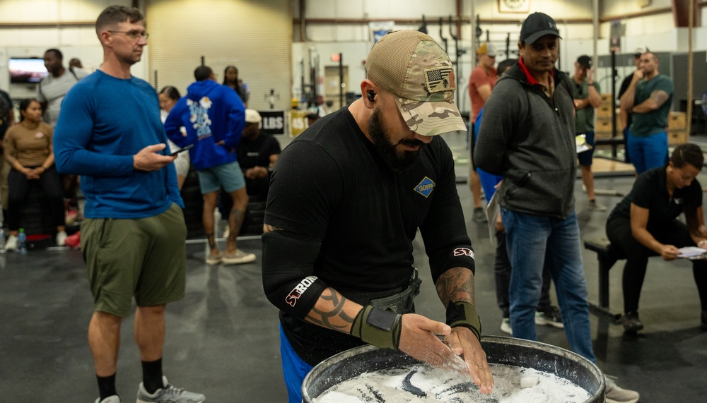
<svg viewBox="0 0 707 403">
<path fill-rule="evenodd" d="M 682 222 L 673 220 L 667 227 L 650 231 L 660 243 L 682 248 L 695 246 L 687 227 Z M 650 256 L 658 256 L 649 248 L 643 246 L 631 234 L 631 220 L 625 217 L 614 218 L 607 222 L 607 236 L 612 244 L 619 247 L 626 256 L 624 265 L 624 312 L 637 312 L 638 299 L 641 298 L 641 287 L 645 278 L 645 267 Z M 707 311 L 707 260 L 692 261 L 692 275 L 697 284 L 702 311 Z"/>
</svg>

